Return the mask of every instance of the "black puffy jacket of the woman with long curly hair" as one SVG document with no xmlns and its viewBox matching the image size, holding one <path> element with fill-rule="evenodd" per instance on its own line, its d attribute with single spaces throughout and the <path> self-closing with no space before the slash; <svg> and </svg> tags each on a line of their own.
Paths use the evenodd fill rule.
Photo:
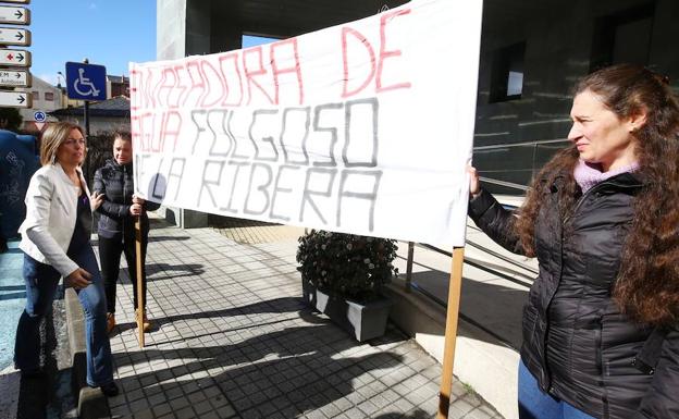
<svg viewBox="0 0 679 419">
<path fill-rule="evenodd" d="M 521 359 L 543 391 L 596 418 L 679 418 L 677 328 L 658 333 L 635 324 L 610 296 L 642 184 L 630 173 L 604 181 L 561 221 L 561 183 L 546 188 L 535 220 L 540 273 L 523 308 Z M 515 217 L 487 192 L 470 201 L 469 215 L 495 242 L 522 254 Z M 644 348 L 651 365 L 637 359 L 646 342 L 653 343 Z"/>
</svg>

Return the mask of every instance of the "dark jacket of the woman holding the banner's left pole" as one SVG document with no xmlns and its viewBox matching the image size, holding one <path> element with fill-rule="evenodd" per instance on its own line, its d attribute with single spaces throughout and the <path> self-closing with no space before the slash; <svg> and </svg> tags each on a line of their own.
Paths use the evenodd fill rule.
<svg viewBox="0 0 679 419">
<path fill-rule="evenodd" d="M 132 163 L 121 165 L 114 159 L 107 160 L 95 173 L 94 190 L 106 195 L 101 207 L 97 210 L 101 215 L 98 225 L 99 235 L 110 238 L 123 231 L 134 230 L 134 217 L 129 214 L 134 194 L 133 182 Z M 160 205 L 146 201 L 144 207 L 148 211 L 155 211 Z M 146 212 L 141 215 L 141 230 L 145 235 L 149 230 Z"/>
</svg>

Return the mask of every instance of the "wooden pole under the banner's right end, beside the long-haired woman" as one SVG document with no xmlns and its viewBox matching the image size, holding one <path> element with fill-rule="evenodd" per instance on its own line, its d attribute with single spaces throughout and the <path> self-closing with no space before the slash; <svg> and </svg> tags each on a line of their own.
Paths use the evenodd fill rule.
<svg viewBox="0 0 679 419">
<path fill-rule="evenodd" d="M 436 419 L 447 419 L 450 406 L 450 391 L 453 390 L 453 363 L 455 362 L 455 342 L 457 340 L 457 320 L 459 312 L 460 291 L 462 288 L 462 263 L 465 248 L 453 249 L 453 267 L 450 283 L 448 284 L 448 308 L 446 316 L 445 348 L 443 352 L 443 372 L 441 391 L 439 393 L 439 414 Z"/>
</svg>

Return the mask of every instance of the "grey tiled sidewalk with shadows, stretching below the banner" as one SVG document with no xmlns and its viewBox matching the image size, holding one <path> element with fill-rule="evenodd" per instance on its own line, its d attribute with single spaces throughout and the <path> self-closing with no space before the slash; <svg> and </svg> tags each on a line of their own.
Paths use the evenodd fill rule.
<svg viewBox="0 0 679 419">
<path fill-rule="evenodd" d="M 113 417 L 435 417 L 441 366 L 398 330 L 358 344 L 301 304 L 296 239 L 225 236 L 152 220 L 157 330 L 140 349 L 122 270 Z M 453 393 L 450 418 L 501 418 L 457 381 Z"/>
</svg>

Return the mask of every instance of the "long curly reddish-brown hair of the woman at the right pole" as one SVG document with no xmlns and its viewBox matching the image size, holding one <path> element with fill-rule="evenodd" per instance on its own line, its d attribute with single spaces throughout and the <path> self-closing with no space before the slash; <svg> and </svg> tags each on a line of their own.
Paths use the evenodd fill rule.
<svg viewBox="0 0 679 419">
<path fill-rule="evenodd" d="M 634 133 L 634 151 L 644 182 L 634 198 L 634 219 L 613 292 L 633 320 L 664 324 L 679 320 L 679 102 L 669 82 L 642 66 L 619 64 L 585 76 L 576 86 L 597 95 L 624 119 L 646 112 Z M 557 153 L 533 180 L 516 229 L 526 252 L 534 256 L 534 220 L 546 188 L 557 176 L 561 220 L 573 209 L 578 186 L 575 145 Z"/>
</svg>

